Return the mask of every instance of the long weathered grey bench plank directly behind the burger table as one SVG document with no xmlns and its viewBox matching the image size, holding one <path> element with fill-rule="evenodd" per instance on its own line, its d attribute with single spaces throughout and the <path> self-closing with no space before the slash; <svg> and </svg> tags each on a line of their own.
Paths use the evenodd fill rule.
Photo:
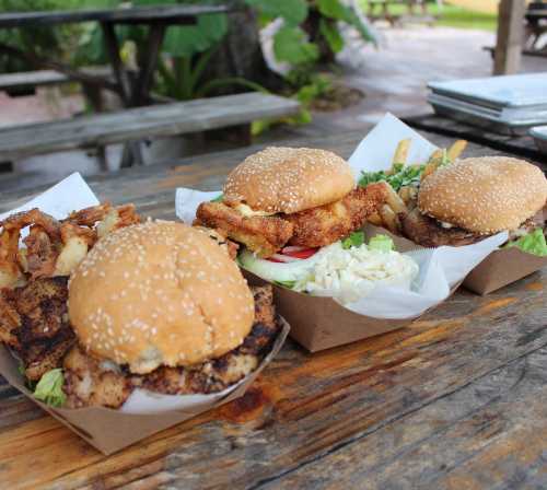
<svg viewBox="0 0 547 490">
<path fill-rule="evenodd" d="M 299 109 L 291 98 L 251 92 L 0 128 L 0 161 L 238 126 Z"/>
</svg>

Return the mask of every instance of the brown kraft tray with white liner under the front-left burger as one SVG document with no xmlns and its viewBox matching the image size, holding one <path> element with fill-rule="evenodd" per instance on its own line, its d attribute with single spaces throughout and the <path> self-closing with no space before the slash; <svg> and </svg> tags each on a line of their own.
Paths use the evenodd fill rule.
<svg viewBox="0 0 547 490">
<path fill-rule="evenodd" d="M 73 210 L 97 203 L 98 200 L 81 175 L 75 173 L 22 207 L 0 214 L 0 220 L 14 212 L 32 208 L 38 208 L 57 219 L 62 219 Z M 0 345 L 0 375 L 97 450 L 104 454 L 110 454 L 243 395 L 258 373 L 281 349 L 289 325 L 284 319 L 280 322 L 282 329 L 271 352 L 263 360 L 258 369 L 236 385 L 218 394 L 172 396 L 136 389 L 119 410 L 98 407 L 56 409 L 36 400 L 26 389 L 23 376 L 18 370 L 19 361 L 2 345 Z"/>
</svg>

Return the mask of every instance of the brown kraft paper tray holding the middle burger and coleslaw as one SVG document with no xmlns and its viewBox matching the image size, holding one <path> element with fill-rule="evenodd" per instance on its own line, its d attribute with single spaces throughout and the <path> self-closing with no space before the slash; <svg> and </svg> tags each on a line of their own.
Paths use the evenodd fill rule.
<svg viewBox="0 0 547 490">
<path fill-rule="evenodd" d="M 399 252 L 423 248 L 407 238 L 371 224 L 364 228 L 364 232 L 369 238 L 376 234 L 391 236 Z M 243 270 L 243 275 L 249 284 L 270 284 L 247 270 Z M 429 311 L 412 318 L 373 318 L 354 313 L 331 298 L 312 296 L 272 285 L 276 307 L 279 314 L 291 324 L 290 336 L 310 352 L 344 346 L 406 327 Z M 454 293 L 459 283 L 455 284 L 450 294 Z"/>
</svg>

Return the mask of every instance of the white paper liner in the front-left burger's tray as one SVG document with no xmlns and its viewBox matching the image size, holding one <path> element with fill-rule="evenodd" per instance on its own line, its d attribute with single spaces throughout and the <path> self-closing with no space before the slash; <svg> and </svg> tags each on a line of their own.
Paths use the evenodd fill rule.
<svg viewBox="0 0 547 490">
<path fill-rule="evenodd" d="M 212 194 L 218 195 L 219 192 Z M 0 220 L 14 212 L 33 208 L 38 208 L 40 211 L 60 220 L 67 218 L 72 211 L 98 203 L 98 199 L 85 184 L 82 176 L 74 173 L 25 205 L 1 214 Z M 175 409 L 194 409 L 220 400 L 244 382 L 245 378 L 223 392 L 211 395 L 161 395 L 144 389 L 136 389 L 120 408 L 120 411 L 126 413 L 156 413 Z"/>
</svg>

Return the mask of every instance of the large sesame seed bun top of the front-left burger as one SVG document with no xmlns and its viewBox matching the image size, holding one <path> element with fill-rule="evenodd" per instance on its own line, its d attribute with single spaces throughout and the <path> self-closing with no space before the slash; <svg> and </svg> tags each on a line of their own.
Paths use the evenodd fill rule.
<svg viewBox="0 0 547 490">
<path fill-rule="evenodd" d="M 164 221 L 100 240 L 70 279 L 68 307 L 84 348 L 139 374 L 223 355 L 254 320 L 253 295 L 226 252 Z"/>
</svg>

